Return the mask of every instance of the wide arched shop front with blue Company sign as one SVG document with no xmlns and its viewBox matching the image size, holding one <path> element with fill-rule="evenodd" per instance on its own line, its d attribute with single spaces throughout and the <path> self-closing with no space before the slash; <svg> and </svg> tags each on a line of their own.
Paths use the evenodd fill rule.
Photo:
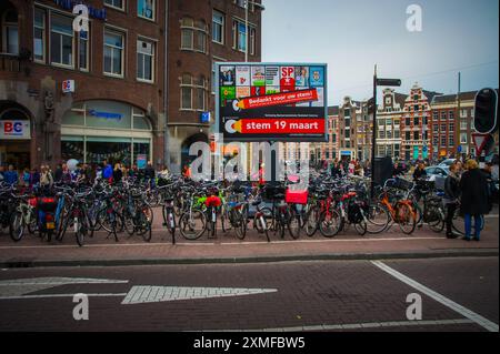
<svg viewBox="0 0 500 354">
<path fill-rule="evenodd" d="M 152 160 L 151 123 L 140 109 L 116 101 L 88 101 L 74 104 L 62 118 L 61 156 L 82 163 L 104 160 L 137 164 L 143 156 Z"/>
</svg>

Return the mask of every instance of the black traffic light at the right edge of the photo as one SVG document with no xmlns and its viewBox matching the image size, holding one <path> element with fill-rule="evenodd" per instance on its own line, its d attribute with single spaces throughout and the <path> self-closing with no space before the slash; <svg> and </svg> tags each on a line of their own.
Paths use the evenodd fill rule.
<svg viewBox="0 0 500 354">
<path fill-rule="evenodd" d="M 498 129 L 498 93 L 482 89 L 476 95 L 474 128 L 478 133 L 490 134 Z"/>
</svg>

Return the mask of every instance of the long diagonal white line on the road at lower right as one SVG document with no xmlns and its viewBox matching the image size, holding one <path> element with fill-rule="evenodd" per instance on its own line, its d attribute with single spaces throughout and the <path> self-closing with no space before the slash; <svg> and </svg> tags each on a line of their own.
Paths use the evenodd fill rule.
<svg viewBox="0 0 500 354">
<path fill-rule="evenodd" d="M 372 261 L 373 265 L 378 266 L 386 273 L 392 275 L 393 277 L 398 279 L 399 281 L 403 282 L 407 285 L 410 285 L 411 287 L 416 289 L 417 291 L 428 295 L 429 297 L 433 299 L 434 301 L 443 304 L 444 306 L 458 312 L 462 316 L 476 322 L 480 326 L 484 327 L 486 330 L 490 332 L 499 332 L 499 326 L 497 323 L 489 321 L 488 318 L 484 318 L 483 316 L 477 314 L 476 312 L 463 307 L 462 305 L 451 301 L 448 297 L 444 297 L 443 295 L 432 291 L 431 289 L 416 282 L 414 280 L 406 276 L 404 274 L 391 269 L 390 266 L 386 265 L 384 263 L 380 261 Z"/>
</svg>

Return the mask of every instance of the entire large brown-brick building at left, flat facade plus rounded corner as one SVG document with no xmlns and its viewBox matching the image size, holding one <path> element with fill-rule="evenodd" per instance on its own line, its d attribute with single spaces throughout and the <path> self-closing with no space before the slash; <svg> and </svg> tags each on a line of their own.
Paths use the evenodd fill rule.
<svg viewBox="0 0 500 354">
<path fill-rule="evenodd" d="M 210 138 L 213 62 L 244 61 L 247 37 L 260 61 L 259 2 L 247 33 L 241 0 L 2 0 L 0 121 L 21 133 L 0 135 L 0 163 L 140 159 L 180 171 L 191 142 Z M 77 3 L 88 31 L 73 30 Z"/>
</svg>

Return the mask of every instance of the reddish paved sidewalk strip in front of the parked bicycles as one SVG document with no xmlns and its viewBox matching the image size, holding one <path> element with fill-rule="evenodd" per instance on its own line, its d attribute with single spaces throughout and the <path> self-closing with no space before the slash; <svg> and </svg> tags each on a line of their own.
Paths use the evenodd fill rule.
<svg viewBox="0 0 500 354">
<path fill-rule="evenodd" d="M 447 240 L 443 233 L 433 233 L 427 226 L 407 236 L 394 226 L 384 234 L 364 237 L 356 235 L 352 229 L 333 240 L 319 233 L 312 239 L 302 234 L 297 241 L 288 234 L 284 241 L 271 235 L 271 243 L 256 232 L 250 232 L 242 242 L 218 231 L 216 240 L 202 236 L 196 242 L 177 235 L 177 244 L 172 245 L 171 237 L 156 222 L 151 243 L 144 243 L 140 236 L 128 239 L 124 234 L 116 243 L 98 233 L 87 240 L 84 247 L 78 247 L 69 237 L 61 244 L 41 242 L 32 235 L 14 244 L 8 235 L 0 234 L 0 267 L 498 256 L 498 230 L 499 219 L 494 215 L 487 219 L 481 242 Z"/>
</svg>

